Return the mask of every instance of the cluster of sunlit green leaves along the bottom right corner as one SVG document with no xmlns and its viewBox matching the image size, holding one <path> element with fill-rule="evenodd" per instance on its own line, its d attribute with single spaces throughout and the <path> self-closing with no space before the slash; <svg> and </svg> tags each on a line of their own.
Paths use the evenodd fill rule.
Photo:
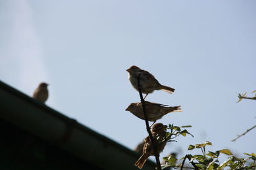
<svg viewBox="0 0 256 170">
<path fill-rule="evenodd" d="M 202 155 L 186 155 L 180 160 L 183 160 L 182 164 L 176 164 L 177 159 L 173 159 L 172 156 L 165 157 L 164 160 L 166 164 L 162 166 L 162 169 L 165 167 L 174 167 L 174 168 L 184 168 L 185 159 L 188 157 L 189 163 L 193 166 L 190 166 L 191 169 L 203 169 L 203 170 L 221 170 L 221 169 L 255 169 L 256 167 L 256 155 L 255 153 L 244 153 L 247 155 L 246 158 L 237 158 L 235 157 L 230 150 L 223 149 L 217 150 L 216 152 L 209 151 L 208 153 L 205 152 L 205 146 L 211 146 L 212 143 L 209 141 L 205 141 L 205 143 L 200 143 L 196 145 L 189 145 L 188 150 L 194 150 L 196 148 L 202 151 Z M 223 153 L 228 155 L 227 160 L 220 164 L 219 162 L 219 155 Z"/>
</svg>

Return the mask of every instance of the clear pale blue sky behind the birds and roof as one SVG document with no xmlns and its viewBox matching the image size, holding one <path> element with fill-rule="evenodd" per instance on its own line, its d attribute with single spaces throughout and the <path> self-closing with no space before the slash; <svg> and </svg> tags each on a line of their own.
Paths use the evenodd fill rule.
<svg viewBox="0 0 256 170">
<path fill-rule="evenodd" d="M 161 156 L 211 141 L 211 151 L 256 153 L 256 1 L 0 0 L 0 80 L 28 96 L 49 83 L 47 106 L 134 149 L 145 122 L 125 108 L 140 101 L 128 73 L 145 69 L 173 94 L 147 101 L 182 107 L 163 124 L 192 125 L 195 137 Z"/>
</svg>

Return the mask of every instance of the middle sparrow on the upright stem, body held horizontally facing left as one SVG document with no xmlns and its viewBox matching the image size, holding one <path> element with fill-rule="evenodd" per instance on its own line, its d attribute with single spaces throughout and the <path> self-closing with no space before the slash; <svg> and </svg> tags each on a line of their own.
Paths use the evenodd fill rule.
<svg viewBox="0 0 256 170">
<path fill-rule="evenodd" d="M 156 122 L 156 120 L 162 118 L 167 113 L 171 112 L 180 112 L 180 106 L 174 107 L 166 107 L 167 105 L 159 104 L 159 103 L 151 103 L 149 101 L 145 101 L 145 109 L 148 116 L 148 121 Z M 131 103 L 126 111 L 130 111 L 133 115 L 138 118 L 145 120 L 142 103 Z"/>
</svg>

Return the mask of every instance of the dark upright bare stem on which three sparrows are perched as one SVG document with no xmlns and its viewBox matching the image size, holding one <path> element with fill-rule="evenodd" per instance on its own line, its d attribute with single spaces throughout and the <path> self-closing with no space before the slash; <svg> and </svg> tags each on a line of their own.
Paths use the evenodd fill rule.
<svg viewBox="0 0 256 170">
<path fill-rule="evenodd" d="M 138 76 L 138 90 L 139 90 L 139 93 L 140 93 L 140 100 L 141 100 L 141 103 L 142 103 L 142 109 L 143 109 L 143 113 L 144 113 L 144 118 L 145 118 L 145 123 L 146 123 L 147 131 L 148 131 L 148 135 L 149 135 L 149 138 L 152 142 L 153 150 L 154 150 L 155 157 L 156 157 L 157 170 L 161 170 L 161 164 L 160 164 L 160 160 L 159 160 L 159 153 L 157 152 L 157 143 L 156 143 L 156 141 L 154 140 L 154 138 L 152 136 L 152 133 L 150 131 L 150 127 L 149 127 L 149 124 L 148 124 L 148 115 L 147 115 L 146 108 L 145 108 L 145 103 L 144 103 L 145 101 L 143 99 L 142 92 L 141 92 L 141 87 L 140 87 L 140 74 Z"/>
</svg>

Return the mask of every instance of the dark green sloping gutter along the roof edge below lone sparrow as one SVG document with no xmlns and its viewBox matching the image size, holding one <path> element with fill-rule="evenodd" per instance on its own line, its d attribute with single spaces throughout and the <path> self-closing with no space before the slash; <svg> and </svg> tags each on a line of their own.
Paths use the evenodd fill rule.
<svg viewBox="0 0 256 170">
<path fill-rule="evenodd" d="M 0 118 L 102 169 L 138 169 L 140 157 L 112 139 L 79 124 L 0 81 Z M 148 160 L 143 169 L 154 169 Z"/>
</svg>

